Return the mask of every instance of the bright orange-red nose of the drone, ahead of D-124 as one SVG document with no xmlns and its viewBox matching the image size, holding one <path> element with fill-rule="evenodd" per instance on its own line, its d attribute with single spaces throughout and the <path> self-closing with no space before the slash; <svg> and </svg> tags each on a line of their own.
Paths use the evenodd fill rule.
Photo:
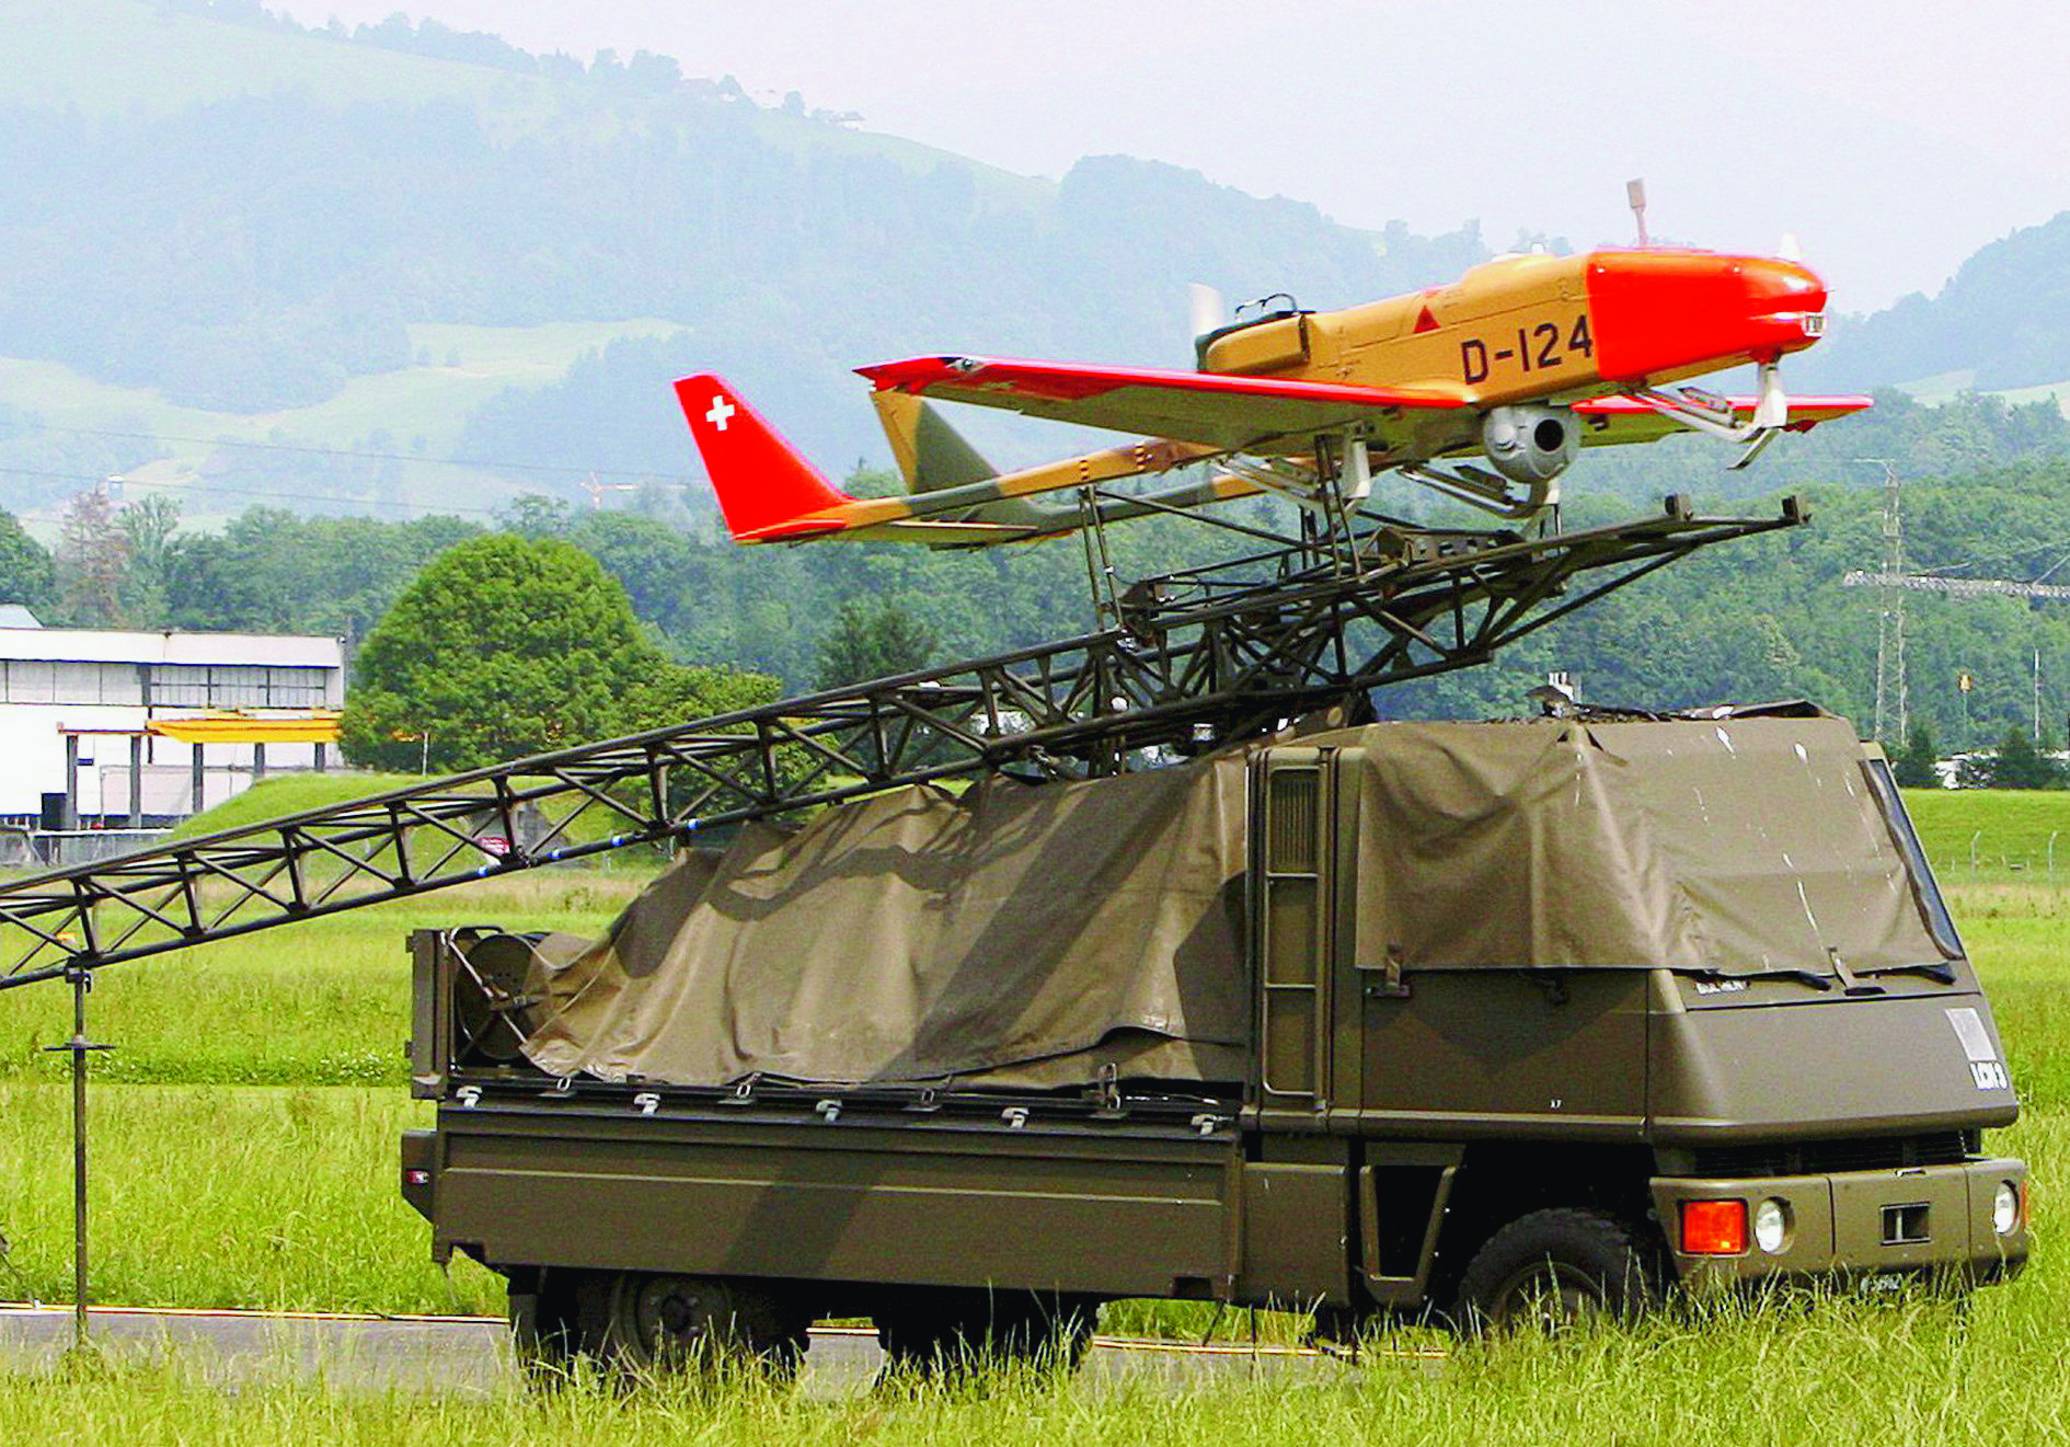
<svg viewBox="0 0 2070 1447">
<path fill-rule="evenodd" d="M 1801 352 L 1824 327 L 1826 284 L 1778 257 L 1598 250 L 1588 306 L 1596 366 L 1644 383 Z"/>
</svg>

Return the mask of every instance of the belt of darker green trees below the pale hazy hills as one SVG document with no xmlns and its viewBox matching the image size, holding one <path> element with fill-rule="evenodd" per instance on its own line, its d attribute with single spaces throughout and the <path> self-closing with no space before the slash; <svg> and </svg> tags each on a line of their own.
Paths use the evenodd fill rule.
<svg viewBox="0 0 2070 1447">
<path fill-rule="evenodd" d="M 1776 497 L 1743 505 L 1772 511 Z M 1811 505 L 1811 526 L 1677 563 L 1492 665 L 1393 687 L 1379 702 L 1389 714 L 1515 714 L 1526 708 L 1526 689 L 1550 669 L 1567 669 L 1596 702 L 1685 706 L 1805 696 L 1867 729 L 1882 598 L 1871 588 L 1842 588 L 1840 578 L 1880 565 L 1882 497 L 1875 489 L 1822 486 Z M 1273 522 L 1277 505 L 1234 507 L 1236 518 Z M 1581 499 L 1569 503 L 1567 524 L 1631 511 L 1629 501 Z M 1904 515 L 1915 569 L 2037 578 L 2070 555 L 2070 462 L 1911 482 Z M 116 513 L 108 530 L 118 538 L 141 534 L 147 544 L 149 528 L 139 528 L 147 522 Z M 911 667 L 1091 627 L 1072 542 L 983 553 L 896 544 L 737 549 L 708 530 L 685 532 L 638 511 L 571 511 L 546 497 L 526 499 L 499 526 L 563 536 L 592 553 L 675 658 L 766 671 L 787 691 L 838 673 L 842 654 L 832 640 L 842 631 L 890 623 L 905 644 L 890 654 L 865 646 L 863 656 Z M 449 518 L 389 524 L 255 509 L 221 534 L 161 538 L 155 549 L 124 553 L 130 565 L 108 598 L 112 611 L 81 613 L 97 598 L 89 586 L 95 569 L 77 549 L 54 563 L 19 530 L 0 526 L 0 594 L 37 600 L 56 619 L 319 631 L 358 642 L 426 559 L 478 532 Z M 1116 528 L 1114 540 L 1128 575 L 1203 561 L 1223 547 L 1163 520 Z M 1993 743 L 2008 727 L 2031 725 L 2037 654 L 2043 725 L 2062 735 L 2070 607 L 1906 594 L 1904 611 L 1911 708 L 1944 749 Z M 1956 691 L 1962 673 L 1975 679 L 1966 710 Z"/>
</svg>

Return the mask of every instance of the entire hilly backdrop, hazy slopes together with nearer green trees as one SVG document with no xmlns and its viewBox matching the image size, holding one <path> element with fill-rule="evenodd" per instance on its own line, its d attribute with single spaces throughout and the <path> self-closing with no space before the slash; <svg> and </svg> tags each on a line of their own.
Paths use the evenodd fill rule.
<svg viewBox="0 0 2070 1447">
<path fill-rule="evenodd" d="M 58 623 L 356 644 L 431 557 L 509 528 L 596 555 L 677 658 L 793 689 L 1078 631 L 1070 544 L 733 549 L 669 381 L 727 373 L 847 474 L 886 460 L 855 364 L 950 348 L 1182 364 L 1188 282 L 1335 306 L 1488 255 L 1474 224 L 1358 232 L 1118 155 L 1012 176 L 795 95 L 756 106 L 698 79 L 696 56 L 530 56 L 400 19 L 313 31 L 255 0 L 19 0 L 0 41 L 37 56 L 0 72 L 0 486 L 41 538 L 0 528 L 0 600 Z M 1559 667 L 1606 702 L 1805 693 L 1867 722 L 1880 600 L 1838 580 L 1880 559 L 1884 462 L 1917 565 L 2060 561 L 2070 424 L 2047 395 L 1975 387 L 2070 377 L 2066 263 L 2070 219 L 2018 232 L 1935 300 L 1842 319 L 1788 368 L 1830 389 L 1933 375 L 1940 406 L 1886 387 L 1747 472 L 1704 439 L 1586 455 L 1569 524 L 1662 493 L 1766 509 L 1784 489 L 1811 489 L 1817 522 L 1385 706 L 1513 712 Z M 1062 445 L 958 422 L 1002 464 Z M 75 501 L 112 474 L 126 482 Z M 1136 524 L 1120 561 L 1201 561 L 1207 536 Z M 2070 609 L 1906 609 L 1913 704 L 1944 743 L 2031 720 L 2037 650 L 2047 718 L 2070 704 Z"/>
</svg>

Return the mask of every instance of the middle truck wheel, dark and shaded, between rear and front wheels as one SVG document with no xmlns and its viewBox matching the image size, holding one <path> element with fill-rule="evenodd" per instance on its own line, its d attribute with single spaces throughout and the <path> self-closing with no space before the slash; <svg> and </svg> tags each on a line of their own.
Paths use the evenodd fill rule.
<svg viewBox="0 0 2070 1447">
<path fill-rule="evenodd" d="M 985 1364 L 1076 1370 L 1097 1306 L 1058 1292 L 927 1292 L 876 1317 L 890 1372 L 931 1377 Z"/>
</svg>

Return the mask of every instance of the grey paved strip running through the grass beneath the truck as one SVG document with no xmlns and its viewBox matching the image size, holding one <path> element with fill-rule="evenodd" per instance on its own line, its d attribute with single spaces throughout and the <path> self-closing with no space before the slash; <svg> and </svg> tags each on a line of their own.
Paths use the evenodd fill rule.
<svg viewBox="0 0 2070 1447">
<path fill-rule="evenodd" d="M 495 1317 L 350 1317 L 319 1312 L 203 1312 L 97 1306 L 93 1341 L 116 1356 L 176 1356 L 224 1383 L 327 1381 L 350 1389 L 493 1395 L 518 1387 L 509 1339 Z M 68 1306 L 0 1306 L 0 1364 L 48 1366 L 72 1343 Z M 803 1389 L 816 1397 L 865 1391 L 884 1356 L 867 1327 L 816 1327 Z M 1432 1356 L 1432 1360 L 1437 1360 Z M 1333 1381 L 1354 1364 L 1310 1348 L 1095 1337 L 1089 1383 L 1163 1383 L 1298 1377 Z"/>
</svg>

